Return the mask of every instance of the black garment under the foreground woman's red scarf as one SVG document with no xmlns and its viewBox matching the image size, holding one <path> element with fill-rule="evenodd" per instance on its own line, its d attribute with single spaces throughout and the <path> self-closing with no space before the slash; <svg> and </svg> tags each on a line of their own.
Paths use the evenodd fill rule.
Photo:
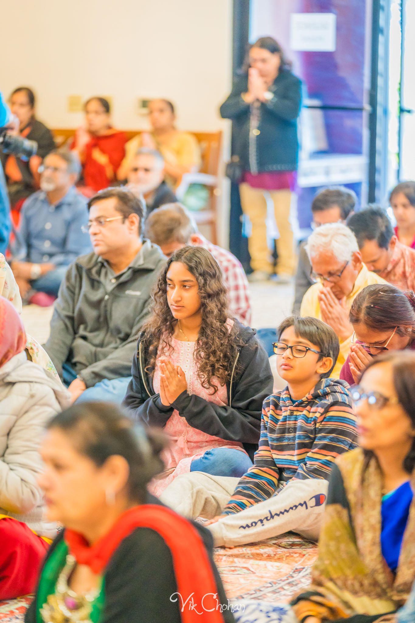
<svg viewBox="0 0 415 623">
<path fill-rule="evenodd" d="M 147 503 L 161 504 L 149 496 Z M 218 602 L 224 604 L 224 623 L 235 623 L 225 591 L 213 562 L 213 538 L 210 532 L 198 523 L 191 522 L 202 537 L 207 549 L 218 589 Z M 50 546 L 50 553 L 62 540 L 60 533 Z M 104 574 L 105 607 L 100 623 L 181 623 L 182 602 L 170 601 L 177 592 L 172 554 L 162 537 L 150 528 L 136 528 L 114 552 Z M 26 612 L 25 623 L 36 623 L 36 613 L 43 604 L 38 604 L 36 595 Z M 189 596 L 182 596 L 186 600 Z M 212 602 L 209 602 L 210 604 Z M 189 602 L 188 602 L 189 604 Z M 201 604 L 195 604 L 202 611 Z M 211 606 L 212 607 L 212 606 Z"/>
</svg>

